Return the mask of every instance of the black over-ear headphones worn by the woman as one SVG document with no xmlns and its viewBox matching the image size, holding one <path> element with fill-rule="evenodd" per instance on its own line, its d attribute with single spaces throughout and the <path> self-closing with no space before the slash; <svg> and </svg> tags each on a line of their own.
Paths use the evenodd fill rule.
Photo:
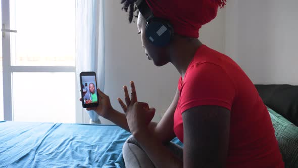
<svg viewBox="0 0 298 168">
<path fill-rule="evenodd" d="M 154 17 L 146 0 L 138 0 L 136 6 L 147 22 L 145 28 L 147 40 L 158 47 L 167 46 L 174 34 L 172 25 L 164 19 Z"/>
</svg>

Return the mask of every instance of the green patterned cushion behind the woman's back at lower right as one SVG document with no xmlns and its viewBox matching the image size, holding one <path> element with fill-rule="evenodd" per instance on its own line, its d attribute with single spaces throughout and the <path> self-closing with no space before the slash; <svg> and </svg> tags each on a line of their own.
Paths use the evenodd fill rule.
<svg viewBox="0 0 298 168">
<path fill-rule="evenodd" d="M 298 127 L 267 107 L 285 167 L 298 167 Z"/>
</svg>

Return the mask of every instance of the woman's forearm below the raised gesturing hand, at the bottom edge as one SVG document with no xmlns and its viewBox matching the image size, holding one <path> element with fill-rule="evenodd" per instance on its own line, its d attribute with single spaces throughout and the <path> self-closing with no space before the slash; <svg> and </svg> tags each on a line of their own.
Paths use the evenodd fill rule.
<svg viewBox="0 0 298 168">
<path fill-rule="evenodd" d="M 149 130 L 133 136 L 156 167 L 183 167 L 183 160 L 171 153 Z"/>
</svg>

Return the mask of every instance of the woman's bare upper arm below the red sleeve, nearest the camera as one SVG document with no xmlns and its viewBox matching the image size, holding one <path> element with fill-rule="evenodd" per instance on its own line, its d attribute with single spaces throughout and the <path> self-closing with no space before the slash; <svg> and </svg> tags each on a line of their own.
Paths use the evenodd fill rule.
<svg viewBox="0 0 298 168">
<path fill-rule="evenodd" d="M 230 133 L 230 111 L 219 106 L 197 106 L 182 113 L 184 167 L 225 167 Z"/>
</svg>

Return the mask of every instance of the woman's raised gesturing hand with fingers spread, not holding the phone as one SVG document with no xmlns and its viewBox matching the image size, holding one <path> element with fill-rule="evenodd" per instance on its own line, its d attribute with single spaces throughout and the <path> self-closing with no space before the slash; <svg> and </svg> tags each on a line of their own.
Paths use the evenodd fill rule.
<svg viewBox="0 0 298 168">
<path fill-rule="evenodd" d="M 138 102 L 135 86 L 133 81 L 130 81 L 131 99 L 129 98 L 127 87 L 124 86 L 125 103 L 118 98 L 118 101 L 125 112 L 127 123 L 132 135 L 145 131 L 148 124 L 155 114 L 155 108 L 149 108 L 147 103 Z"/>
</svg>

